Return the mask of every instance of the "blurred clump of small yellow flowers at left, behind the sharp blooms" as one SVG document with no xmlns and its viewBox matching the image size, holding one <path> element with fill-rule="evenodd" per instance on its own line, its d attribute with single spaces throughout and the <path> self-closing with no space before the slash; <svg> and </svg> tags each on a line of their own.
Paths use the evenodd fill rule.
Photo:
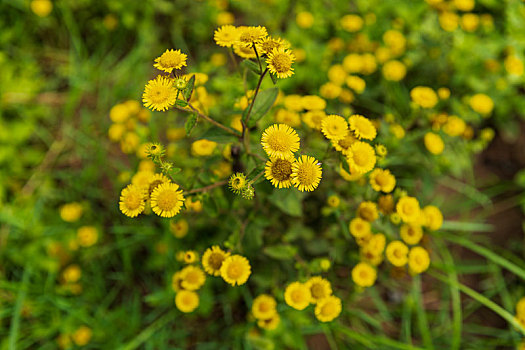
<svg viewBox="0 0 525 350">
<path fill-rule="evenodd" d="M 150 119 L 150 112 L 142 108 L 138 101 L 129 100 L 113 106 L 109 118 L 112 121 L 108 130 L 109 139 L 118 142 L 124 153 L 139 152 L 139 135 L 149 132 L 146 123 Z"/>
</svg>

